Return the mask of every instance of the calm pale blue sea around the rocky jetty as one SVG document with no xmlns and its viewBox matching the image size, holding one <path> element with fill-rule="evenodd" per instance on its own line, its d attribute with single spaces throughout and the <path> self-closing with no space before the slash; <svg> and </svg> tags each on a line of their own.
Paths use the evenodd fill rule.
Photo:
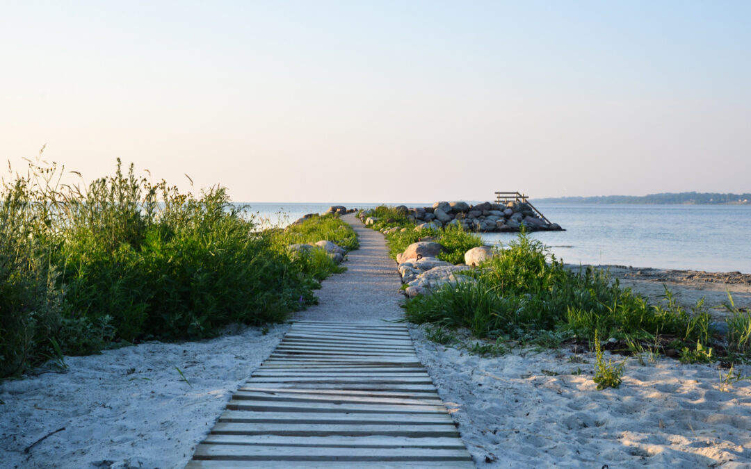
<svg viewBox="0 0 751 469">
<path fill-rule="evenodd" d="M 271 224 L 286 225 L 335 204 L 249 203 Z M 347 208 L 379 204 L 338 203 Z M 405 203 L 406 206 L 427 204 Z M 751 206 L 535 204 L 566 228 L 532 236 L 566 263 L 751 273 Z M 482 235 L 506 244 L 513 233 Z"/>
</svg>

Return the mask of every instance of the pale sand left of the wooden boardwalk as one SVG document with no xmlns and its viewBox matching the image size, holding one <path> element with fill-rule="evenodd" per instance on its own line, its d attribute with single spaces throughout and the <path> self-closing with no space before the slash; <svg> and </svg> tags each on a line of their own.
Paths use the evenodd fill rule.
<svg viewBox="0 0 751 469">
<path fill-rule="evenodd" d="M 65 374 L 0 384 L 0 467 L 184 467 L 288 326 L 66 357 Z M 178 367 L 191 386 L 175 369 Z M 65 428 L 24 449 L 44 435 Z"/>
</svg>

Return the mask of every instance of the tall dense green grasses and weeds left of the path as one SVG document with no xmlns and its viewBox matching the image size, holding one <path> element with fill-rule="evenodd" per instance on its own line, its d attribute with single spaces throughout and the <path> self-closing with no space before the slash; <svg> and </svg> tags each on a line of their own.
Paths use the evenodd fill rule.
<svg viewBox="0 0 751 469">
<path fill-rule="evenodd" d="M 113 342 L 285 320 L 341 269 L 321 250 L 291 255 L 288 245 L 357 248 L 334 216 L 259 231 L 225 188 L 181 193 L 119 161 L 85 188 L 61 184 L 63 175 L 31 162 L 0 193 L 0 377 Z"/>
</svg>

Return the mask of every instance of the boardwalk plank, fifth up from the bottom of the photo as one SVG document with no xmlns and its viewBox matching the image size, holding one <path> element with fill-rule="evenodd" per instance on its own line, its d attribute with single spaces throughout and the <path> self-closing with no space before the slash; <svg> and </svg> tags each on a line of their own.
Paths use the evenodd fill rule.
<svg viewBox="0 0 751 469">
<path fill-rule="evenodd" d="M 436 425 L 453 424 L 448 413 L 320 413 L 249 412 L 225 410 L 219 422 L 292 423 L 318 425 Z"/>
</svg>

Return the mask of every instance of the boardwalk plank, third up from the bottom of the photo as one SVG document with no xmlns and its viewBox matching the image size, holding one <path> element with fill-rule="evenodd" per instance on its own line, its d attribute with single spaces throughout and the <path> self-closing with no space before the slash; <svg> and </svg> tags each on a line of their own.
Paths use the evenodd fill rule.
<svg viewBox="0 0 751 469">
<path fill-rule="evenodd" d="M 464 449 L 464 443 L 458 438 L 432 437 L 415 438 L 402 436 L 371 435 L 364 437 L 343 437 L 331 435 L 328 437 L 291 437 L 276 434 L 262 435 L 234 435 L 210 434 L 204 443 L 263 445 L 263 446 L 294 446 L 308 448 L 327 446 L 330 448 L 436 448 L 436 449 Z"/>
</svg>

